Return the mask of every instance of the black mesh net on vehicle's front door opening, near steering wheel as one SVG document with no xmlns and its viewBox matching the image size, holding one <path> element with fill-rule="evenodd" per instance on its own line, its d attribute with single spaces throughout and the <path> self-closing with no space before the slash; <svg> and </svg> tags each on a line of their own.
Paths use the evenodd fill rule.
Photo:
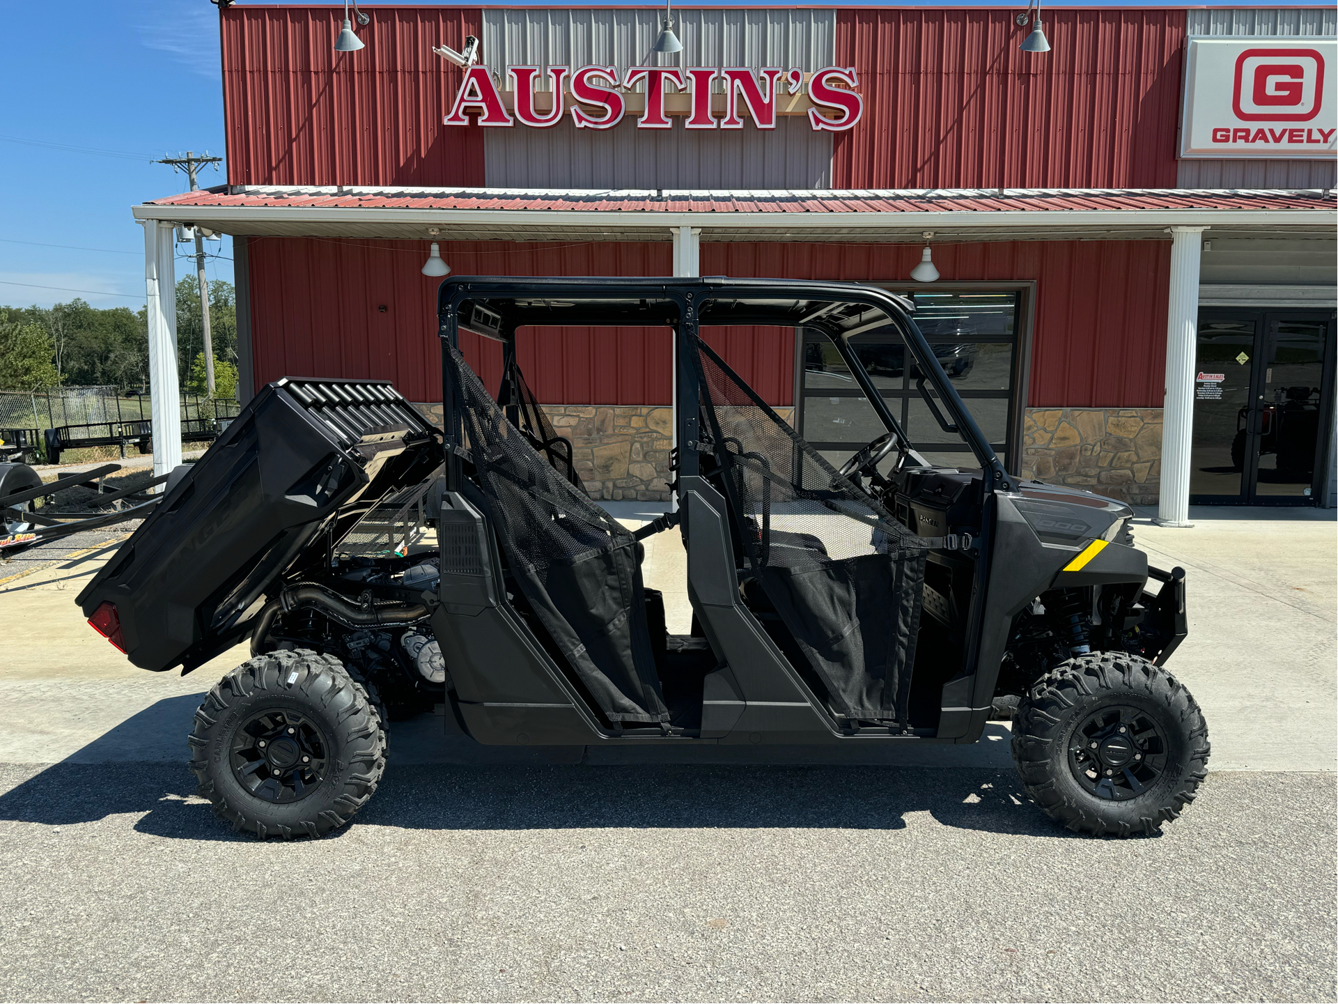
<svg viewBox="0 0 1338 1004">
<path fill-rule="evenodd" d="M 709 345 L 702 412 L 752 574 L 852 722 L 906 726 L 925 543 L 836 473 Z"/>
</svg>

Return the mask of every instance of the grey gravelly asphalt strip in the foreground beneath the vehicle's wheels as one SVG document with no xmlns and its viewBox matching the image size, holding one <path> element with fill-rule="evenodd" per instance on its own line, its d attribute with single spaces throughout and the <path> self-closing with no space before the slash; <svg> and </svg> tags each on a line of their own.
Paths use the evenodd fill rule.
<svg viewBox="0 0 1338 1004">
<path fill-rule="evenodd" d="M 166 764 L 0 767 L 5 1000 L 1333 1000 L 1331 774 L 1078 838 L 987 770 L 392 767 L 260 843 Z"/>
</svg>

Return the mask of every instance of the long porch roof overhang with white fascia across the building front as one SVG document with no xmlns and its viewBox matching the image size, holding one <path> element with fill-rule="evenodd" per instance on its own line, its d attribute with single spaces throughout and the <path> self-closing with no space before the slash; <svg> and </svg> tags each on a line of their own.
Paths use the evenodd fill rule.
<svg viewBox="0 0 1338 1004">
<path fill-rule="evenodd" d="M 1054 209 L 898 213 L 692 213 L 648 210 L 427 209 L 356 206 L 190 206 L 143 203 L 135 220 L 246 237 L 361 237 L 438 241 L 666 241 L 670 228 L 700 228 L 702 241 L 935 242 L 1018 240 L 1167 240 L 1167 228 L 1207 226 L 1333 238 L 1331 207 Z M 436 228 L 438 234 L 429 234 Z"/>
</svg>

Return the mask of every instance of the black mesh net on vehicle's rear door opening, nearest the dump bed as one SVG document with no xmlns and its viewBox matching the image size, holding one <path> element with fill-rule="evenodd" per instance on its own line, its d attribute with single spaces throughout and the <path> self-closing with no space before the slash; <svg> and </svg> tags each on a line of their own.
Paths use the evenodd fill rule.
<svg viewBox="0 0 1338 1004">
<path fill-rule="evenodd" d="M 632 533 L 507 422 L 456 349 L 444 355 L 488 517 L 535 616 L 611 722 L 668 722 Z"/>
</svg>

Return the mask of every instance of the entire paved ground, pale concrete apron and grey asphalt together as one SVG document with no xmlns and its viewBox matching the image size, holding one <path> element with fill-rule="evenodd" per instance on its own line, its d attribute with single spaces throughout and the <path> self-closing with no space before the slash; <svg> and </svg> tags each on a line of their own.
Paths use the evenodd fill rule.
<svg viewBox="0 0 1338 1004">
<path fill-rule="evenodd" d="M 74 606 L 104 543 L 3 566 L 0 1000 L 1331 1000 L 1334 523 L 1208 515 L 1136 530 L 1189 569 L 1214 758 L 1128 841 L 1028 805 L 1005 726 L 876 766 L 480 766 L 424 716 L 352 826 L 260 843 L 183 766 L 245 653 L 127 667 Z"/>
</svg>

